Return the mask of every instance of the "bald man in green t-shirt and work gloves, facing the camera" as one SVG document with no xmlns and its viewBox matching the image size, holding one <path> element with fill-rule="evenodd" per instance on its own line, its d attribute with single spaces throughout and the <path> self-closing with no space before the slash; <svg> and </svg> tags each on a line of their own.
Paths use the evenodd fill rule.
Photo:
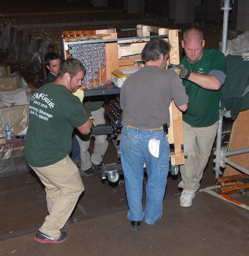
<svg viewBox="0 0 249 256">
<path fill-rule="evenodd" d="M 200 187 L 219 124 L 220 88 L 226 79 L 226 61 L 222 52 L 204 49 L 202 32 L 195 28 L 185 31 L 182 46 L 185 56 L 180 65 L 169 64 L 169 69 L 183 79 L 189 96 L 189 108 L 183 113 L 183 143 L 185 164 L 181 166 L 183 188 L 180 205 L 192 204 Z"/>
</svg>

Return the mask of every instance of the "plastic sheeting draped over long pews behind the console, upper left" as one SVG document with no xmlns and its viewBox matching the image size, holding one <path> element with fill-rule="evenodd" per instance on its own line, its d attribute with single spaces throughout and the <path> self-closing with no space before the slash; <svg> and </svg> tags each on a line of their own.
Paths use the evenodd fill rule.
<svg viewBox="0 0 249 256">
<path fill-rule="evenodd" d="M 127 14 L 124 12 L 82 13 L 82 14 L 51 14 L 44 17 L 2 18 L 3 33 L 0 37 L 0 49 L 9 49 L 12 58 L 25 66 L 31 65 L 39 69 L 43 67 L 43 59 L 51 48 L 61 58 L 62 31 L 68 30 L 99 30 L 107 28 L 136 28 L 137 19 L 143 20 L 144 14 Z M 127 20 L 119 22 L 119 20 Z M 108 20 L 114 20 L 115 23 Z M 131 20 L 134 20 L 132 23 Z M 148 19 L 149 20 L 149 19 Z M 84 25 L 80 24 L 83 23 Z M 99 23 L 99 24 L 92 24 Z M 158 25 L 158 20 L 147 21 L 152 26 Z M 135 24 L 135 25 L 134 25 Z M 136 36 L 137 31 L 119 31 L 118 37 Z"/>
</svg>

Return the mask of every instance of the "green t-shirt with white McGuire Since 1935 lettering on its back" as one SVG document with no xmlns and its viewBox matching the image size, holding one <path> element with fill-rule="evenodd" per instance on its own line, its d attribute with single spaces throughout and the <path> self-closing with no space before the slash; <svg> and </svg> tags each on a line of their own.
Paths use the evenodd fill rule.
<svg viewBox="0 0 249 256">
<path fill-rule="evenodd" d="M 74 127 L 86 123 L 82 102 L 65 86 L 45 84 L 30 99 L 25 157 L 35 167 L 57 163 L 72 150 Z"/>
</svg>

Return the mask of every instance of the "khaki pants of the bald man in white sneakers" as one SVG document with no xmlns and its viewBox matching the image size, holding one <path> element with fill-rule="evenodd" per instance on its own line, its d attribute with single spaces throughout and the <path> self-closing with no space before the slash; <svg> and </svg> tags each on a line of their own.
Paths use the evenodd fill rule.
<svg viewBox="0 0 249 256">
<path fill-rule="evenodd" d="M 195 192 L 200 187 L 203 171 L 211 154 L 219 121 L 209 127 L 191 127 L 183 122 L 183 145 L 185 164 L 181 165 L 182 181 L 178 184 L 190 192 Z"/>
</svg>

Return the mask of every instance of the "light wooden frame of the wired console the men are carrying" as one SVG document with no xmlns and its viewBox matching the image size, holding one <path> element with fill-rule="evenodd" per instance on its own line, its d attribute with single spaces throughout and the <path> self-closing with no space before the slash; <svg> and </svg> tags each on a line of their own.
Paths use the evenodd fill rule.
<svg viewBox="0 0 249 256">
<path fill-rule="evenodd" d="M 151 33 L 158 35 L 168 35 L 164 39 L 168 41 L 171 45 L 171 50 L 169 52 L 168 63 L 179 64 L 179 40 L 178 40 L 178 30 L 177 29 L 168 29 L 160 27 L 152 27 L 145 25 L 137 25 L 138 36 L 150 36 Z M 104 31 L 102 31 L 104 32 Z M 101 35 L 104 39 L 114 39 L 117 38 L 116 33 L 111 33 L 108 36 Z M 86 38 L 85 38 L 86 39 Z M 76 38 L 74 40 L 77 40 Z M 79 39 L 80 40 L 80 39 Z M 126 68 L 137 68 L 138 66 L 134 65 L 135 60 L 141 60 L 141 57 L 133 57 L 142 52 L 144 45 L 150 39 L 143 39 L 143 42 L 136 39 L 131 40 L 117 40 L 117 42 L 106 43 L 106 58 L 107 58 L 107 79 L 110 79 L 113 74 L 112 72 L 116 69 L 126 69 Z M 68 42 L 68 39 L 63 39 L 63 48 L 65 59 L 68 57 L 66 52 L 67 48 L 65 47 L 65 42 Z M 131 54 L 132 53 L 132 54 Z M 131 54 L 130 58 L 120 59 L 122 56 Z M 174 101 L 172 101 L 170 107 L 170 126 L 169 126 L 169 136 L 168 141 L 170 144 L 174 144 L 175 151 L 170 153 L 171 164 L 181 165 L 184 164 L 184 152 L 183 152 L 183 122 L 182 122 L 182 112 L 175 106 Z"/>
</svg>

